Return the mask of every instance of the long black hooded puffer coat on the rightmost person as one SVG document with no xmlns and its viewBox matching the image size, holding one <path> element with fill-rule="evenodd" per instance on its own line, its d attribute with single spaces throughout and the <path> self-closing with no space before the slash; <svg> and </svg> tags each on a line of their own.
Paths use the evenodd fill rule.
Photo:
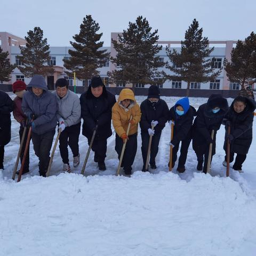
<svg viewBox="0 0 256 256">
<path fill-rule="evenodd" d="M 232 134 L 235 138 L 233 141 L 231 141 L 230 150 L 237 154 L 245 155 L 248 153 L 252 143 L 252 123 L 254 117 L 253 111 L 256 108 L 256 102 L 252 99 L 245 98 L 246 107 L 244 111 L 237 113 L 233 107 L 237 98 L 235 98 L 231 103 L 228 113 L 225 116 L 225 121 L 230 121 L 230 134 Z M 226 136 L 227 131 L 225 134 L 225 139 Z M 223 146 L 224 150 L 226 149 L 226 143 L 227 142 L 225 140 Z"/>
</svg>

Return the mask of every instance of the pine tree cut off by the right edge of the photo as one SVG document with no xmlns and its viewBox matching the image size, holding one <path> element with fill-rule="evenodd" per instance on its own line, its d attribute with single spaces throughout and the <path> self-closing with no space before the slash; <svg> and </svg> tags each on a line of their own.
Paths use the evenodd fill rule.
<svg viewBox="0 0 256 256">
<path fill-rule="evenodd" d="M 238 40 L 231 51 L 231 61 L 224 60 L 229 81 L 238 82 L 242 89 L 256 77 L 256 34 L 253 32 L 242 42 Z"/>
</svg>

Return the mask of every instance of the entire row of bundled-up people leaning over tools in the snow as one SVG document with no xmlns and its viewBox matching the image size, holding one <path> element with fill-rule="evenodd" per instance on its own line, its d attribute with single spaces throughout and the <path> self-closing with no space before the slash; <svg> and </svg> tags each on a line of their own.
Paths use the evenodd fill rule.
<svg viewBox="0 0 256 256">
<path fill-rule="evenodd" d="M 26 91 L 27 90 L 27 91 Z M 246 97 L 238 96 L 230 107 L 227 100 L 219 94 L 212 94 L 207 103 L 196 111 L 189 105 L 188 98 L 178 100 L 169 110 L 166 102 L 160 99 L 157 86 L 150 86 L 148 97 L 139 106 L 133 91 L 123 89 L 116 102 L 115 95 L 106 90 L 100 77 L 93 77 L 86 92 L 80 99 L 68 90 L 68 82 L 64 78 L 56 82 L 56 91 L 51 93 L 43 76 L 35 75 L 30 83 L 17 81 L 13 84 L 13 92 L 17 95 L 14 102 L 10 97 L 0 92 L 0 169 L 3 169 L 4 146 L 11 138 L 10 113 L 20 123 L 20 139 L 24 128 L 32 127 L 32 141 L 35 154 L 39 158 L 39 174 L 45 176 L 49 163 L 55 127 L 58 123 L 61 129 L 59 138 L 60 154 L 63 161 L 63 171 L 70 172 L 68 146 L 73 153 L 73 166 L 79 165 L 78 138 L 83 119 L 82 134 L 90 144 L 92 134 L 95 138 L 92 144 L 94 162 L 99 170 L 106 170 L 105 158 L 107 139 L 111 136 L 111 119 L 116 131 L 115 150 L 118 158 L 121 156 L 123 143 L 126 142 L 125 153 L 121 166 L 127 175 L 131 174 L 132 164 L 137 153 L 138 124 L 141 127 L 141 153 L 143 159 L 142 171 L 147 171 L 146 158 L 149 137 L 152 136 L 150 161 L 151 169 L 156 169 L 156 156 L 162 130 L 167 121 L 174 124 L 174 135 L 170 142 L 173 147 L 172 167 L 177 161 L 180 147 L 180 157 L 177 171 L 185 171 L 188 147 L 193 140 L 193 149 L 197 155 L 197 170 L 206 172 L 209 145 L 212 143 L 212 156 L 215 154 L 215 141 L 221 123 L 231 127 L 230 134 L 225 135 L 231 143 L 230 162 L 236 160 L 234 170 L 242 170 L 246 154 L 252 142 L 252 122 L 255 102 Z M 132 119 L 130 117 L 132 116 Z M 195 121 L 193 124 L 194 117 Z M 129 134 L 126 134 L 130 123 Z M 152 129 L 154 125 L 154 129 Z M 211 138 L 211 131 L 214 137 Z M 226 150 L 226 139 L 224 149 Z M 25 146 L 24 146 L 25 147 Z M 24 149 L 24 148 L 23 148 Z M 23 150 L 21 161 L 23 158 Z M 226 164 L 227 158 L 223 161 Z M 169 163 L 170 164 L 170 163 Z M 23 173 L 29 172 L 29 155 L 26 157 Z"/>
</svg>

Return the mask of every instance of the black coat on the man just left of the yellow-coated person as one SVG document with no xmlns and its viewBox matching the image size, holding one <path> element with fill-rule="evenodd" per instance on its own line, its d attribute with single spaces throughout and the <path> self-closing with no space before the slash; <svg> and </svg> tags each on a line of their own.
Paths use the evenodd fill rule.
<svg viewBox="0 0 256 256">
<path fill-rule="evenodd" d="M 91 86 L 80 97 L 81 117 L 83 118 L 83 135 L 91 138 L 95 126 L 98 125 L 95 140 L 107 139 L 111 136 L 111 109 L 116 102 L 116 97 L 106 90 L 99 98 L 93 96 Z"/>
</svg>

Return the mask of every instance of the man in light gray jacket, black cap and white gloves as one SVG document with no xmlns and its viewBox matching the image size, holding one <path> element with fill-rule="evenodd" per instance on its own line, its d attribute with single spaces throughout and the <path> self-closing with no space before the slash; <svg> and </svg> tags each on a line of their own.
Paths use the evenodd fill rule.
<svg viewBox="0 0 256 256">
<path fill-rule="evenodd" d="M 55 87 L 57 118 L 61 129 L 60 155 L 63 162 L 63 172 L 70 172 L 68 145 L 73 153 L 73 166 L 76 168 L 80 163 L 78 138 L 81 129 L 81 105 L 77 95 L 68 90 L 68 81 L 65 78 L 59 78 Z"/>
</svg>

